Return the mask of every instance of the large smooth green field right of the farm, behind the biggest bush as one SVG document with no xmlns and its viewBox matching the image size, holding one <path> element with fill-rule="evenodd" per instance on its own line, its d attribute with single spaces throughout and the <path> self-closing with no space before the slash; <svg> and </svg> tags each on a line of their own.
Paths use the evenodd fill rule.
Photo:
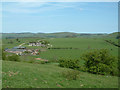
<svg viewBox="0 0 120 90">
<path fill-rule="evenodd" d="M 41 52 L 40 57 L 45 59 L 59 59 L 60 57 L 70 57 L 72 59 L 80 59 L 80 56 L 92 49 L 106 48 L 114 56 L 118 56 L 118 48 L 105 42 L 103 39 L 93 38 L 57 38 L 48 39 L 53 47 L 73 47 L 78 49 L 50 49 Z"/>
</svg>

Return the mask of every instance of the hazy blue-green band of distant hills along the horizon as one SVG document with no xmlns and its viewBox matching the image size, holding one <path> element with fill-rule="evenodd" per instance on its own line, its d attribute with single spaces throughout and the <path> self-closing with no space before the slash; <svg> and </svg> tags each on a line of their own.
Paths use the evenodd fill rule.
<svg viewBox="0 0 120 90">
<path fill-rule="evenodd" d="M 74 33 L 74 32 L 57 32 L 57 33 L 2 33 L 2 38 L 24 38 L 24 37 L 40 37 L 40 38 L 74 38 L 74 37 L 103 37 L 107 34 L 90 34 L 90 33 Z"/>
</svg>

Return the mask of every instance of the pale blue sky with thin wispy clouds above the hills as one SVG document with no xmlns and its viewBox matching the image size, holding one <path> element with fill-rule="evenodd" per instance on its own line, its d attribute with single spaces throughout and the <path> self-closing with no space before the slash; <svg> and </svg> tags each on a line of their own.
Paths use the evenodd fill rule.
<svg viewBox="0 0 120 90">
<path fill-rule="evenodd" d="M 112 33 L 117 2 L 4 2 L 2 32 Z"/>
</svg>

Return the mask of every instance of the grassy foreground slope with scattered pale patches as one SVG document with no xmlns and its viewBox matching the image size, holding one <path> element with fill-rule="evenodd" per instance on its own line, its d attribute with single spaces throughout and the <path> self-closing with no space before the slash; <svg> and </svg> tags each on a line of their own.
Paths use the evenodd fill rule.
<svg viewBox="0 0 120 90">
<path fill-rule="evenodd" d="M 7 67 L 6 67 L 7 66 Z M 80 72 L 77 80 L 67 80 L 70 70 L 56 64 L 30 64 L 3 61 L 3 88 L 117 88 L 118 77 Z"/>
</svg>

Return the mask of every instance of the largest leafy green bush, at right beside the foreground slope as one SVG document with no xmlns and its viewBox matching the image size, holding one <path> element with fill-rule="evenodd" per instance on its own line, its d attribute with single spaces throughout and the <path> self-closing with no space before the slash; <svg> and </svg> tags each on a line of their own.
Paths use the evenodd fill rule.
<svg viewBox="0 0 120 90">
<path fill-rule="evenodd" d="M 117 75 L 117 59 L 107 49 L 88 52 L 82 56 L 85 60 L 85 70 L 94 74 Z"/>
</svg>

